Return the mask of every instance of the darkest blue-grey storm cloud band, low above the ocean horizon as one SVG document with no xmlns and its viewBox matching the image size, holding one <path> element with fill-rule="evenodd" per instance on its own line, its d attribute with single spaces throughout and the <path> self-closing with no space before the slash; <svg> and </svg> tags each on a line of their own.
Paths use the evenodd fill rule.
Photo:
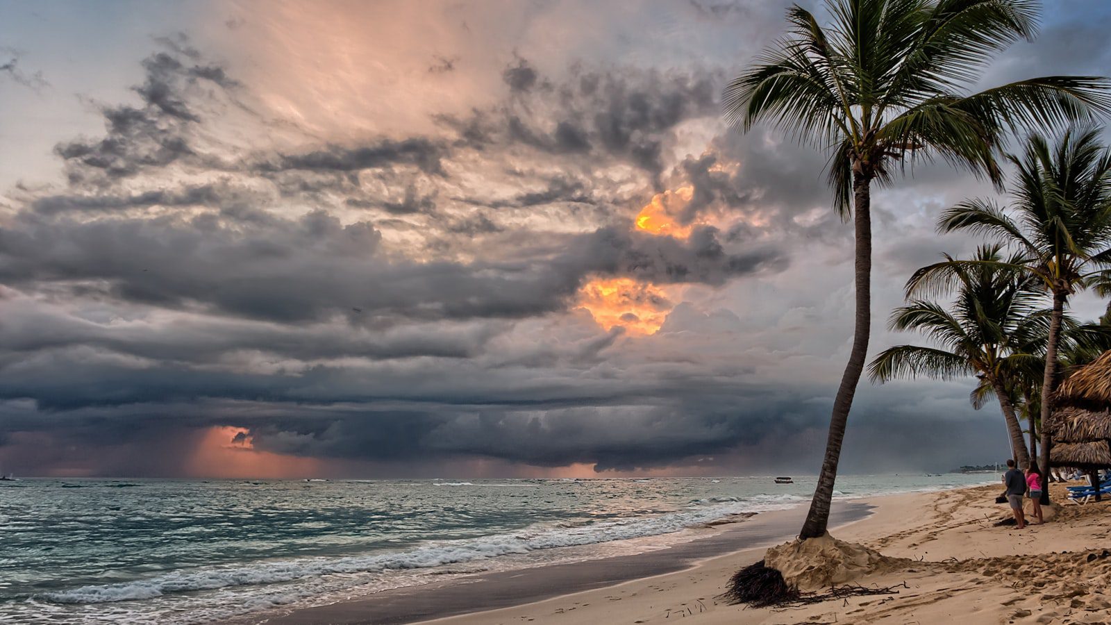
<svg viewBox="0 0 1111 625">
<path fill-rule="evenodd" d="M 77 389 L 101 393 L 103 387 L 86 385 L 77 373 Z M 130 384 L 128 377 L 118 378 Z M 97 383 L 111 381 L 99 375 Z M 150 380 L 148 380 L 150 381 Z M 290 380 L 296 381 L 296 380 Z M 319 381 L 313 378 L 309 383 Z M 481 409 L 377 409 L 342 406 L 326 407 L 302 403 L 293 409 L 282 403 L 268 403 L 264 397 L 280 394 L 297 396 L 309 384 L 293 389 L 268 389 L 252 397 L 250 411 L 238 410 L 231 404 L 190 397 L 189 404 L 170 403 L 159 410 L 172 415 L 173 427 L 189 428 L 223 425 L 229 421 L 250 428 L 257 449 L 318 458 L 369 462 L 400 462 L 420 458 L 433 463 L 444 458 L 483 456 L 534 466 L 564 466 L 581 462 L 597 465 L 598 470 L 691 466 L 708 457 L 719 456 L 718 466 L 729 466 L 737 448 L 744 456 L 735 458 L 741 470 L 783 467 L 797 468 L 799 463 L 820 457 L 824 439 L 824 410 L 811 405 L 822 398 L 822 389 L 799 387 L 793 396 L 767 393 L 722 393 L 713 389 L 703 400 L 690 403 L 669 399 L 675 393 L 708 390 L 664 385 L 654 396 L 642 389 L 629 388 L 629 395 L 617 397 L 613 406 L 543 409 L 537 406 L 510 408 L 490 406 Z M 194 383 L 186 379 L 186 390 Z M 0 383 L 0 389 L 6 385 Z M 207 386 L 219 390 L 218 385 Z M 269 393 L 269 395 L 268 395 Z M 635 395 L 634 395 L 635 393 Z M 363 394 L 366 396 L 366 394 Z M 738 406 L 743 406 L 738 409 Z M 63 408 L 64 404 L 54 406 Z M 959 406 L 955 413 L 967 411 Z M 166 426 L 152 421 L 149 406 L 112 409 L 86 404 L 58 413 L 52 419 L 12 418 L 0 421 L 0 433 L 48 431 L 70 445 L 149 445 L 152 431 Z M 938 453 L 923 466 L 944 470 L 968 464 L 981 456 L 954 448 L 948 438 L 959 434 L 975 442 L 988 457 L 1002 455 L 999 424 L 994 415 L 971 420 L 939 424 L 908 424 L 913 437 L 892 436 L 892 406 L 885 403 L 862 405 L 857 426 L 847 437 L 847 469 L 857 466 L 872 469 L 901 470 L 905 459 L 919 456 L 924 440 L 934 440 Z M 954 413 L 950 413 L 954 414 Z M 901 431 L 902 429 L 900 429 Z M 890 453 L 883 458 L 863 449 L 875 445 Z M 777 449 L 790 448 L 790 459 Z M 853 454 L 852 449 L 860 452 Z M 872 464 L 852 458 L 871 457 Z M 900 459 L 902 458 L 902 459 Z M 877 465 L 875 462 L 885 463 Z M 727 469 L 728 470 L 728 469 Z"/>
</svg>

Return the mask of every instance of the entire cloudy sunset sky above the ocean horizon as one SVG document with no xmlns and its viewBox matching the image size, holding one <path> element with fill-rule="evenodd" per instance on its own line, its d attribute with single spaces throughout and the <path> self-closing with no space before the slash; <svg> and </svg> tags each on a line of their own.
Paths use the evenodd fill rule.
<svg viewBox="0 0 1111 625">
<path fill-rule="evenodd" d="M 0 0 L 0 470 L 817 473 L 852 230 L 720 105 L 787 6 Z M 979 86 L 1111 73 L 1111 6 L 1043 16 Z M 993 195 L 908 173 L 871 355 Z M 842 470 L 1007 457 L 972 386 L 863 380 Z"/>
</svg>

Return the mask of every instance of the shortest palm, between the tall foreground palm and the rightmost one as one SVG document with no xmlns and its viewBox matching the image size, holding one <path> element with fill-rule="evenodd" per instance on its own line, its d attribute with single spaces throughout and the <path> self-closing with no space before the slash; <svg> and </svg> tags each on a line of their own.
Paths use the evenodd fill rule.
<svg viewBox="0 0 1111 625">
<path fill-rule="evenodd" d="M 1014 265 L 1021 257 L 1002 258 L 1002 246 L 981 247 L 977 260 Z M 953 259 L 947 256 L 949 261 Z M 980 408 L 992 395 L 999 400 L 1011 437 L 1011 449 L 1019 466 L 1030 466 L 1030 454 L 1022 438 L 1015 410 L 1015 359 L 1028 357 L 1020 346 L 1029 345 L 1045 327 L 1045 315 L 1038 314 L 1041 294 L 1029 274 L 999 267 L 975 265 L 954 268 L 957 295 L 950 309 L 927 299 L 914 299 L 891 315 L 893 330 L 918 330 L 937 347 L 898 345 L 880 353 L 869 366 L 873 381 L 920 375 L 952 379 L 975 375 L 980 385 L 972 403 Z"/>
</svg>

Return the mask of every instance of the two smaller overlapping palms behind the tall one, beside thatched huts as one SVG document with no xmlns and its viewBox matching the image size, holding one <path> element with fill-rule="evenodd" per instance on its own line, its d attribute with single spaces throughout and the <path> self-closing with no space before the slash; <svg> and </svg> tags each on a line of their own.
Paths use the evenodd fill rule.
<svg viewBox="0 0 1111 625">
<path fill-rule="evenodd" d="M 970 259 L 945 260 L 915 271 L 908 304 L 891 327 L 918 330 L 932 346 L 899 345 L 870 366 L 873 380 L 974 375 L 973 404 L 999 400 L 1021 467 L 1041 458 L 1049 467 L 1047 423 L 1061 369 L 1083 365 L 1111 348 L 1111 326 L 1079 324 L 1064 314 L 1085 288 L 1111 287 L 1111 150 L 1095 128 L 1065 130 L 1055 143 L 1031 135 L 1014 166 L 1011 202 L 971 199 L 941 214 L 939 230 L 970 230 L 994 239 Z M 952 296 L 947 304 L 930 296 Z M 1111 319 L 1109 319 L 1111 320 Z M 1049 393 L 1047 393 L 1047 389 Z M 1029 453 L 1020 414 L 1029 424 Z M 1049 497 L 1042 472 L 1042 496 Z"/>
</svg>

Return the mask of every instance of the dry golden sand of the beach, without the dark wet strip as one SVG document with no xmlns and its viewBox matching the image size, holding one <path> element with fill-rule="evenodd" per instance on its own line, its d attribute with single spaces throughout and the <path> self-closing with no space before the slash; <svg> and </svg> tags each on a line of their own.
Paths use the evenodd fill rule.
<svg viewBox="0 0 1111 625">
<path fill-rule="evenodd" d="M 1064 487 L 1052 488 L 1054 500 L 1063 500 Z M 1103 598 L 1111 585 L 1111 499 L 1048 509 L 1045 525 L 1017 530 L 993 526 L 1010 516 L 1005 505 L 994 504 L 998 492 L 999 486 L 987 485 L 878 496 L 868 500 L 867 518 L 833 528 L 835 537 L 888 557 L 888 566 L 853 582 L 898 587 L 887 596 L 785 608 L 715 601 L 737 569 L 763 557 L 760 546 L 677 573 L 424 623 L 668 625 L 681 616 L 695 625 L 1105 624 L 1111 613 L 1111 601 Z"/>
</svg>

